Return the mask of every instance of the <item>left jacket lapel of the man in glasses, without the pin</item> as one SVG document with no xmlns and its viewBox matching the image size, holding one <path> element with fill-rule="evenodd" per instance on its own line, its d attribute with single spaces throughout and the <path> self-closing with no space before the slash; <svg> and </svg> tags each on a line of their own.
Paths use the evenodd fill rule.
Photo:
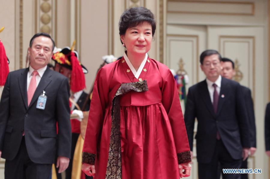
<svg viewBox="0 0 270 179">
<path fill-rule="evenodd" d="M 202 96 L 202 100 L 205 102 L 206 107 L 208 108 L 209 112 L 212 114 L 213 117 L 215 117 L 215 113 L 214 113 L 214 108 L 213 108 L 213 104 L 211 102 L 211 98 L 210 98 L 210 94 L 207 88 L 207 83 L 206 80 L 204 80 L 200 87 L 199 87 L 199 92 Z"/>
</svg>

